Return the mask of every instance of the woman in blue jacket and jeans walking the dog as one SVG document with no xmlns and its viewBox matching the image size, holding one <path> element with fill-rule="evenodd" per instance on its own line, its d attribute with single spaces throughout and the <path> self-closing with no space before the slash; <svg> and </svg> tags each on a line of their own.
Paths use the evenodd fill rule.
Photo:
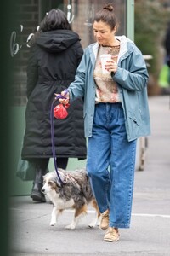
<svg viewBox="0 0 170 256">
<path fill-rule="evenodd" d="M 130 226 L 136 140 L 150 134 L 144 58 L 131 40 L 116 37 L 117 26 L 111 5 L 95 15 L 97 42 L 85 49 L 67 99 L 60 100 L 84 97 L 87 170 L 102 213 L 100 228 L 107 229 L 104 241 L 118 241 L 118 229 Z M 102 54 L 112 55 L 108 74 L 102 73 Z"/>
</svg>

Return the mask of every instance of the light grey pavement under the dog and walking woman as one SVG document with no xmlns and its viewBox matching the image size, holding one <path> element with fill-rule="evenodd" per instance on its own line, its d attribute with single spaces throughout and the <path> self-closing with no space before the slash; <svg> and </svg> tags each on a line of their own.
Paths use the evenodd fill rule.
<svg viewBox="0 0 170 256">
<path fill-rule="evenodd" d="M 104 230 L 88 228 L 92 208 L 76 230 L 65 230 L 73 212 L 49 226 L 52 205 L 29 196 L 11 199 L 11 256 L 169 256 L 170 255 L 170 107 L 169 96 L 150 97 L 152 135 L 144 171 L 135 172 L 131 229 L 117 243 L 103 241 Z"/>
</svg>

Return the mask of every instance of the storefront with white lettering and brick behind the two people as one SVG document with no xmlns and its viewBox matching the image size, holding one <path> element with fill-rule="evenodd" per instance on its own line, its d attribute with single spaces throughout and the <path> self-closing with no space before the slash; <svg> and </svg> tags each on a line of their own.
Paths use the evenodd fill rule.
<svg viewBox="0 0 170 256">
<path fill-rule="evenodd" d="M 26 62 L 29 53 L 27 42 L 37 31 L 37 26 L 50 9 L 62 9 L 73 31 L 81 38 L 82 47 L 94 42 L 92 22 L 94 14 L 101 9 L 107 1 L 104 0 L 18 0 L 16 1 L 14 30 L 11 33 L 11 55 L 14 61 L 13 106 L 26 105 Z M 116 15 L 119 19 L 117 34 L 130 31 L 133 35 L 133 1 L 114 0 Z M 127 27 L 127 14 L 131 16 L 131 27 Z"/>
</svg>

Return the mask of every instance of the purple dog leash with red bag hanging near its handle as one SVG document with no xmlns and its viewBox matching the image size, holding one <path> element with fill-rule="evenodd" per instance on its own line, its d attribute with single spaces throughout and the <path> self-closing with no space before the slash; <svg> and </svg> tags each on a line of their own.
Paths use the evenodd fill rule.
<svg viewBox="0 0 170 256">
<path fill-rule="evenodd" d="M 66 89 L 66 90 L 64 90 L 64 91 L 65 91 L 65 95 L 66 95 L 66 94 L 68 93 L 68 90 Z M 54 103 L 55 103 L 56 101 L 58 101 L 59 99 L 66 99 L 66 98 L 65 98 L 65 95 L 64 95 L 64 96 L 58 95 L 58 96 L 56 96 L 56 97 L 54 98 L 54 101 L 53 101 L 52 104 L 51 104 L 51 111 L 50 111 L 50 121 L 51 121 L 51 144 L 52 144 L 52 153 L 53 153 L 53 159 L 54 159 L 54 168 L 55 168 L 55 172 L 56 172 L 56 174 L 57 174 L 57 176 L 58 176 L 58 178 L 59 178 L 59 182 L 60 182 L 61 186 L 64 184 L 64 182 L 63 182 L 62 179 L 60 178 L 60 176 L 59 176 L 59 171 L 58 171 L 58 168 L 57 168 L 57 156 L 56 156 L 56 154 L 55 154 L 55 143 L 54 143 L 54 116 L 55 116 L 55 118 L 57 118 L 57 119 L 65 119 L 65 118 L 67 117 L 67 114 L 68 114 L 65 108 L 69 108 L 69 104 L 67 104 L 66 107 L 64 107 L 63 104 L 60 103 L 58 106 L 55 107 L 55 108 L 56 108 L 56 113 L 57 113 L 57 111 L 58 111 L 58 113 L 59 113 L 59 110 L 60 110 L 61 108 L 62 108 L 62 110 L 65 109 L 65 111 L 66 111 L 65 114 L 64 114 L 64 116 L 62 116 L 62 114 L 59 114 L 59 117 L 57 117 L 56 113 L 54 112 L 54 111 L 55 111 Z"/>
</svg>

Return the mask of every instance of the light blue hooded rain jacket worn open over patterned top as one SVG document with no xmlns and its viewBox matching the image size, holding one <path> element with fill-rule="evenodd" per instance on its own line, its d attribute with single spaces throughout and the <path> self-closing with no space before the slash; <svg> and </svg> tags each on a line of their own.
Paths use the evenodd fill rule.
<svg viewBox="0 0 170 256">
<path fill-rule="evenodd" d="M 121 42 L 118 68 L 112 78 L 116 81 L 125 115 L 127 140 L 150 135 L 147 82 L 149 79 L 144 57 L 135 44 L 125 36 L 116 37 Z M 94 67 L 99 44 L 90 44 L 77 68 L 75 81 L 68 88 L 70 100 L 84 97 L 85 137 L 92 136 L 95 108 Z"/>
</svg>

